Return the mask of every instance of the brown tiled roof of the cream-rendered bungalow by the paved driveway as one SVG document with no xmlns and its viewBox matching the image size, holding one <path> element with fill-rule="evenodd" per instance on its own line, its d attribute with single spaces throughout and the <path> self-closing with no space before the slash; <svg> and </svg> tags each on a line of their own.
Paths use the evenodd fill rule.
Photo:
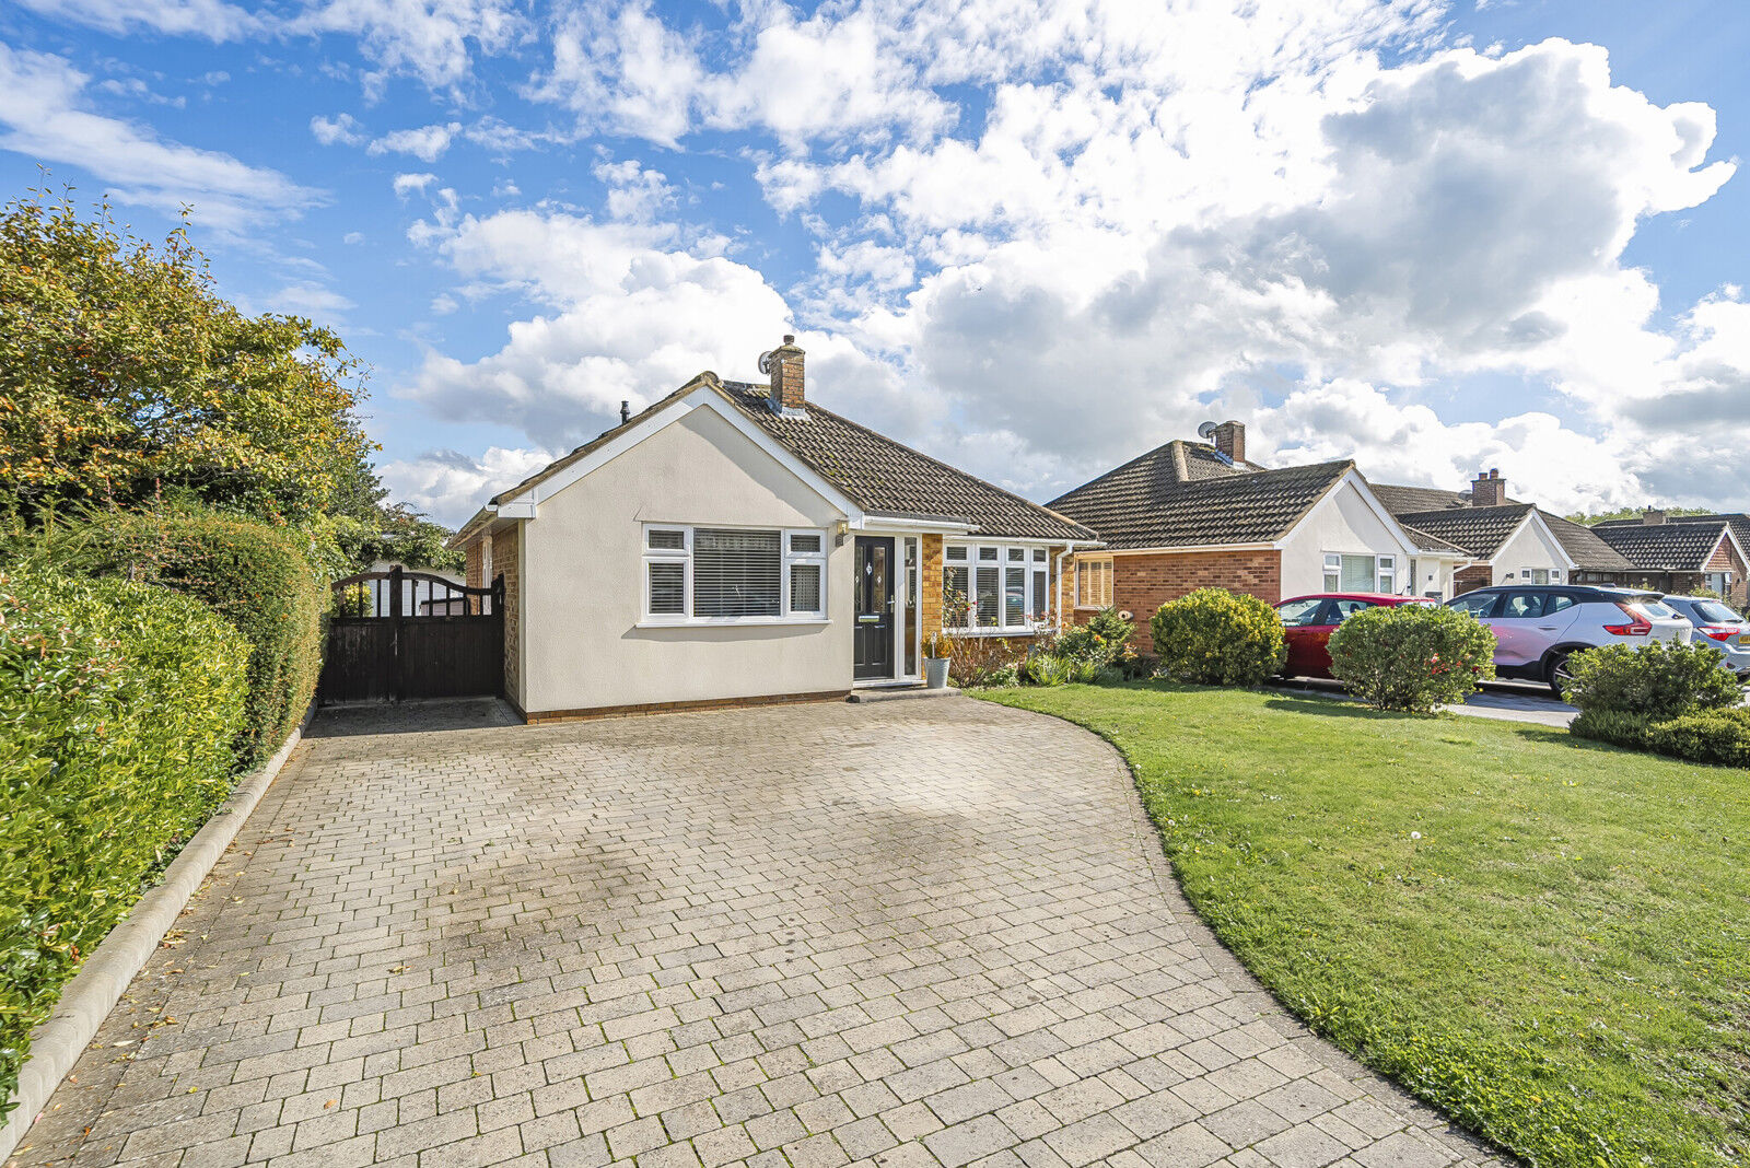
<svg viewBox="0 0 1750 1168">
<path fill-rule="evenodd" d="M 880 516 L 950 519 L 970 523 L 976 535 L 1017 539 L 1092 540 L 1094 532 L 1038 504 L 992 486 L 962 470 L 882 437 L 866 427 L 807 402 L 800 414 L 775 414 L 766 406 L 768 390 L 746 381 L 716 381 L 700 374 L 630 421 L 604 430 L 592 441 L 528 476 L 494 504 L 514 498 L 530 486 L 584 458 L 590 451 L 639 425 L 653 413 L 700 386 L 718 388 L 737 409 L 772 435 L 822 479 L 842 490 L 858 507 Z M 464 530 L 474 525 L 469 519 Z M 458 533 L 460 535 L 460 533 Z"/>
</svg>

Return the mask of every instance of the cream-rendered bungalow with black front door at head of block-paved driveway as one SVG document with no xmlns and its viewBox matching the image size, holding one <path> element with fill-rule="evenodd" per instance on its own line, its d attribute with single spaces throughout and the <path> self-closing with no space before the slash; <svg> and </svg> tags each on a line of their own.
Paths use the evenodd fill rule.
<svg viewBox="0 0 1750 1168">
<path fill-rule="evenodd" d="M 500 491 L 452 539 L 504 577 L 504 694 L 530 722 L 917 684 L 945 624 L 1062 619 L 1087 526 L 807 399 L 702 372 Z M 964 598 L 964 601 L 961 601 Z"/>
</svg>

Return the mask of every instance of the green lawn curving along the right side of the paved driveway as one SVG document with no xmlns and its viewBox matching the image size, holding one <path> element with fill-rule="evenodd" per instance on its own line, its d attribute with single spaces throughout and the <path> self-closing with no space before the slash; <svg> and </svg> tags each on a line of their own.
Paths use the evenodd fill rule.
<svg viewBox="0 0 1750 1168">
<path fill-rule="evenodd" d="M 1536 1165 L 1750 1161 L 1750 773 L 1160 684 L 1008 689 L 1129 757 L 1316 1030 Z"/>
</svg>

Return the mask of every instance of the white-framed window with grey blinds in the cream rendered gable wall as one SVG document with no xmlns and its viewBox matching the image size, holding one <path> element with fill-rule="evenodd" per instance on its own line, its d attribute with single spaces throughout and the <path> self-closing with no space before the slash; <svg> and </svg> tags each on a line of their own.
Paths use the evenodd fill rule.
<svg viewBox="0 0 1750 1168">
<path fill-rule="evenodd" d="M 733 624 L 824 614 L 824 532 L 644 528 L 648 619 Z"/>
</svg>

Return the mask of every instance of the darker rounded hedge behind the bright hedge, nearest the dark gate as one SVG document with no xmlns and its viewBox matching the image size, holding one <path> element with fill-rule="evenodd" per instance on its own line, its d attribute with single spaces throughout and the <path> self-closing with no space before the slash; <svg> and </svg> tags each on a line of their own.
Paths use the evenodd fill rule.
<svg viewBox="0 0 1750 1168">
<path fill-rule="evenodd" d="M 247 724 L 238 759 L 280 748 L 322 671 L 324 587 L 296 530 L 203 509 L 107 514 L 60 540 L 60 563 L 163 584 L 205 601 L 250 643 Z"/>
</svg>

